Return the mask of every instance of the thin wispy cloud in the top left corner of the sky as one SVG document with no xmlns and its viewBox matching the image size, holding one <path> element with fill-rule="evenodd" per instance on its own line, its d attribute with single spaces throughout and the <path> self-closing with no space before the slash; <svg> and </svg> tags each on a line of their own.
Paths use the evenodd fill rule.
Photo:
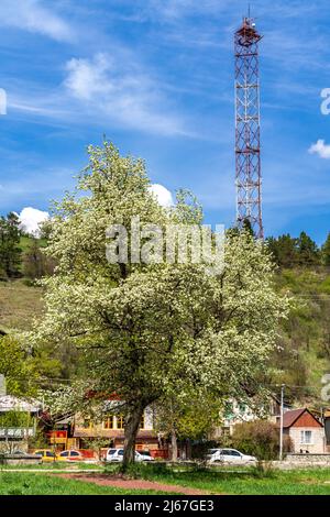
<svg viewBox="0 0 330 517">
<path fill-rule="evenodd" d="M 58 41 L 73 38 L 73 30 L 41 0 L 1 0 L 0 25 L 44 34 Z"/>
</svg>

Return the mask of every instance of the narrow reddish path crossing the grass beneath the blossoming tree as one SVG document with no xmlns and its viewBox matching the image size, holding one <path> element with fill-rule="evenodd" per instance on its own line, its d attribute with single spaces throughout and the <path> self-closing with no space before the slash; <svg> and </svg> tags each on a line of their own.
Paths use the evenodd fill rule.
<svg viewBox="0 0 330 517">
<path fill-rule="evenodd" d="M 107 476 L 100 475 L 86 475 L 86 474 L 55 474 L 58 477 L 78 480 L 88 483 L 95 483 L 100 486 L 114 486 L 116 488 L 127 488 L 128 491 L 155 491 L 155 492 L 172 492 L 184 495 L 206 495 L 208 492 L 200 491 L 198 488 L 188 488 L 178 485 L 164 485 L 156 483 L 155 481 L 145 480 L 125 480 L 119 476 Z"/>
</svg>

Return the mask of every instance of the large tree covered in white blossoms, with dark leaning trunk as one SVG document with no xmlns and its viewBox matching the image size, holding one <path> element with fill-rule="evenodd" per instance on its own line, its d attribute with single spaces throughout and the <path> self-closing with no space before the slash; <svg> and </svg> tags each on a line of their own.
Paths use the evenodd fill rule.
<svg viewBox="0 0 330 517">
<path fill-rule="evenodd" d="M 273 289 L 273 265 L 248 233 L 227 237 L 224 267 L 204 263 L 109 263 L 111 224 L 201 226 L 198 205 L 182 194 L 163 208 L 144 162 L 109 143 L 89 147 L 77 190 L 56 205 L 45 279 L 46 311 L 37 338 L 84 350 L 88 383 L 114 394 L 125 418 L 124 466 L 134 461 L 144 409 L 194 389 L 232 396 L 255 384 L 272 352 L 287 301 Z M 255 386 L 254 386 L 255 388 Z"/>
</svg>

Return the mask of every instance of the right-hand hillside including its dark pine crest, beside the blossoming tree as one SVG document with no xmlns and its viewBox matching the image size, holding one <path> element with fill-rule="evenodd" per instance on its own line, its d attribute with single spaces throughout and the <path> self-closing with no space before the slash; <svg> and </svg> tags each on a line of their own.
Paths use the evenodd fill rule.
<svg viewBox="0 0 330 517">
<path fill-rule="evenodd" d="M 320 249 L 305 232 L 268 239 L 268 246 L 278 266 L 276 288 L 296 302 L 283 324 L 274 380 L 288 386 L 289 397 L 318 405 L 330 372 L 330 235 Z"/>
</svg>

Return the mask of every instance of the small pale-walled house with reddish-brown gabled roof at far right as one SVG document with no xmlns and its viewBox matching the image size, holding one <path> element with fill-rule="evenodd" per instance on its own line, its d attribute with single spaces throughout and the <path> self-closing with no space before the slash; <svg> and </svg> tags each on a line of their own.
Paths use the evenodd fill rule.
<svg viewBox="0 0 330 517">
<path fill-rule="evenodd" d="M 279 427 L 279 422 L 277 422 Z M 326 435 L 323 425 L 309 409 L 294 409 L 283 416 L 283 432 L 293 442 L 293 452 L 323 454 L 326 452 Z"/>
</svg>

